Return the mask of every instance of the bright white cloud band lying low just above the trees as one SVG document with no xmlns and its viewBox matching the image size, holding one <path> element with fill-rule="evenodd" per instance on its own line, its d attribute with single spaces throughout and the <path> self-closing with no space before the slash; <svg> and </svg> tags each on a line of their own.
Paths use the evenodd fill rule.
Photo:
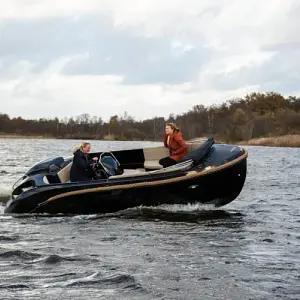
<svg viewBox="0 0 300 300">
<path fill-rule="evenodd" d="M 210 99 L 222 101 L 249 91 L 247 87 L 227 93 L 213 90 L 186 93 L 191 88 L 189 83 L 123 85 L 121 76 L 68 76 L 60 72 L 65 64 L 77 59 L 82 57 L 61 58 L 41 73 L 32 72 L 34 65 L 29 62 L 12 66 L 12 72 L 18 70 L 15 73 L 18 80 L 0 83 L 0 91 L 9 99 L 7 104 L 12 115 L 15 115 L 14 111 L 21 111 L 26 117 L 63 118 L 87 112 L 108 119 L 126 110 L 134 116 L 149 118 L 168 116 L 197 103 L 208 105 Z M 174 109 L 170 109 L 172 107 Z"/>
</svg>

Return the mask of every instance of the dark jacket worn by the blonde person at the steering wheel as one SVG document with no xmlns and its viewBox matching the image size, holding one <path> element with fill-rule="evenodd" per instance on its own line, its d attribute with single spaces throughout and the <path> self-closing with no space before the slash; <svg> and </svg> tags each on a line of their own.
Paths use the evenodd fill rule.
<svg viewBox="0 0 300 300">
<path fill-rule="evenodd" d="M 91 161 L 81 150 L 77 150 L 74 153 L 70 180 L 73 182 L 92 180 Z"/>
</svg>

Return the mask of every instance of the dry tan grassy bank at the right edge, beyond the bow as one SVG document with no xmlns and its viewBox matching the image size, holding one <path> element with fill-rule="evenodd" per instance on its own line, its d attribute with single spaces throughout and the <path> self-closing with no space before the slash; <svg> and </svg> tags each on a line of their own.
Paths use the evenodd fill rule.
<svg viewBox="0 0 300 300">
<path fill-rule="evenodd" d="M 239 142 L 238 144 L 271 147 L 300 147 L 300 134 L 251 139 L 249 141 Z"/>
</svg>

